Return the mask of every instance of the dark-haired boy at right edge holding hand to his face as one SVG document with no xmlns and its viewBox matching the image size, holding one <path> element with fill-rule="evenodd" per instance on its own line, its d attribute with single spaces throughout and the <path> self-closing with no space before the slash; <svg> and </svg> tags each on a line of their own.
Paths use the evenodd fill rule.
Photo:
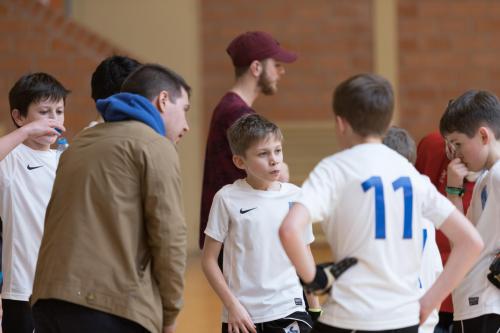
<svg viewBox="0 0 500 333">
<path fill-rule="evenodd" d="M 472 270 L 453 291 L 453 332 L 500 330 L 500 289 L 489 281 L 490 265 L 500 251 L 500 102 L 487 91 L 470 90 L 451 101 L 441 118 L 441 134 L 455 148 L 448 165 L 448 198 L 462 209 L 468 171 L 482 171 L 472 192 L 467 217 L 484 241 Z M 498 272 L 497 272 L 498 274 Z"/>
</svg>

